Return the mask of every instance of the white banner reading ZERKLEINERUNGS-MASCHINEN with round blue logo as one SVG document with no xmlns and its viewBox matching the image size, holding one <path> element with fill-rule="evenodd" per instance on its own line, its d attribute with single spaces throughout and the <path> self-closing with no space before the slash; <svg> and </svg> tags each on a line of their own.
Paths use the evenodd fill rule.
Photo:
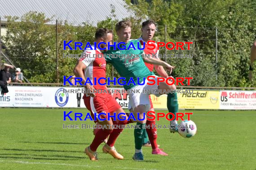
<svg viewBox="0 0 256 170">
<path fill-rule="evenodd" d="M 9 93 L 0 94 L 0 107 L 84 107 L 82 93 L 63 93 L 79 88 L 8 86 Z"/>
</svg>

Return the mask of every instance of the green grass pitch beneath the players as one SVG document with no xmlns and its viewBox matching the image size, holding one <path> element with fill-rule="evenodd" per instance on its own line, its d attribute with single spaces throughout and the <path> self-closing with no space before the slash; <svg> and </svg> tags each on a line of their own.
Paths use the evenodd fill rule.
<svg viewBox="0 0 256 170">
<path fill-rule="evenodd" d="M 0 108 L 1 170 L 255 170 L 256 111 L 181 110 L 193 112 L 197 134 L 185 139 L 168 129 L 158 129 L 158 144 L 169 156 L 152 155 L 143 147 L 145 161 L 132 160 L 133 129 L 124 129 L 115 148 L 124 160 L 115 160 L 98 148 L 99 161 L 92 162 L 84 148 L 93 140 L 92 129 L 63 129 L 62 124 L 94 124 L 63 121 L 63 111 L 85 109 Z M 165 112 L 167 110 L 156 110 Z M 160 118 L 158 124 L 168 125 Z M 80 127 L 79 126 L 79 127 Z"/>
</svg>

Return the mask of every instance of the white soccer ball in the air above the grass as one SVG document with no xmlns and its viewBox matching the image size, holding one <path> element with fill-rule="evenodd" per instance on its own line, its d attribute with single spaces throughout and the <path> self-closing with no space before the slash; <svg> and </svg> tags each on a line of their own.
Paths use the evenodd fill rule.
<svg viewBox="0 0 256 170">
<path fill-rule="evenodd" d="M 196 125 L 192 120 L 183 120 L 179 127 L 178 132 L 182 137 L 190 138 L 196 134 Z"/>
</svg>

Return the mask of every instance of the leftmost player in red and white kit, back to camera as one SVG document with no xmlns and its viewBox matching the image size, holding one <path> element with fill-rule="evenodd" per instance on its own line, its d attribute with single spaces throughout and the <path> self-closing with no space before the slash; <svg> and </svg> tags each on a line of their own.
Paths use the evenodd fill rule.
<svg viewBox="0 0 256 170">
<path fill-rule="evenodd" d="M 98 45 L 100 42 L 110 42 L 110 44 L 112 44 L 112 36 L 113 34 L 111 30 L 106 28 L 98 29 L 95 34 L 95 42 L 97 43 L 96 45 Z M 107 45 L 101 45 L 102 48 L 107 47 Z M 96 77 L 97 80 L 100 77 L 106 78 L 106 60 L 103 57 L 97 57 L 99 55 L 103 56 L 102 51 L 97 48 L 97 50 L 85 50 L 84 53 L 84 57 L 80 58 L 75 66 L 75 76 L 82 77 L 83 85 L 85 84 L 87 77 L 90 78 L 91 82 L 94 80 L 93 77 Z M 101 79 L 100 82 L 104 84 L 105 80 Z M 93 89 L 107 90 L 106 85 L 90 85 L 88 83 L 84 85 L 84 88 L 90 90 L 91 92 L 93 92 Z M 93 119 L 94 113 L 96 113 L 97 117 L 100 113 L 110 113 L 110 115 L 113 115 L 113 113 L 116 113 L 116 115 L 119 113 L 125 113 L 121 106 L 116 102 L 116 100 L 112 98 L 110 93 L 86 93 L 84 94 L 83 99 L 84 104 L 86 108 L 90 110 Z M 116 119 L 116 121 L 113 121 L 112 119 L 107 120 L 107 115 L 100 115 L 100 117 L 101 119 L 106 118 L 106 120 L 101 121 L 100 119 L 97 119 L 97 123 L 101 124 L 102 126 L 106 125 L 106 128 L 100 128 L 97 130 L 92 144 L 85 148 L 84 152 L 88 155 L 90 160 L 97 161 L 98 158 L 96 150 L 98 146 L 106 139 L 106 137 L 109 136 L 107 143 L 103 146 L 103 152 L 110 153 L 116 159 L 124 159 L 121 154 L 117 153 L 114 147 L 115 140 L 123 131 L 123 129 L 113 129 L 112 125 L 125 125 L 127 123 L 127 116 L 120 116 L 120 118 L 124 117 L 123 121 L 118 119 Z"/>
</svg>

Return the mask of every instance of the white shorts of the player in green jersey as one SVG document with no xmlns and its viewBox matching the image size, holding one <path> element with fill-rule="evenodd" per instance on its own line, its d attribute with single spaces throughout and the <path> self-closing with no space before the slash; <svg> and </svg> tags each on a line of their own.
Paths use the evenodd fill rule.
<svg viewBox="0 0 256 170">
<path fill-rule="evenodd" d="M 155 82 L 157 82 L 157 77 L 159 77 L 159 76 L 150 77 L 149 79 L 152 79 L 152 80 L 154 79 Z M 161 95 L 161 94 L 157 93 L 157 90 L 155 90 L 155 89 L 158 89 L 158 86 L 159 86 L 159 85 L 157 85 L 157 83 L 155 83 L 154 85 L 148 85 L 147 83 L 148 83 L 148 81 L 146 79 L 144 85 L 137 85 L 137 86 L 133 87 L 132 89 L 130 89 L 131 93 L 128 93 L 128 95 L 129 95 L 128 109 L 129 110 L 134 109 L 135 107 L 137 107 L 139 105 L 145 105 L 146 106 L 145 111 L 149 111 L 150 110 L 149 95 L 154 94 L 156 97 L 159 97 Z M 145 90 L 149 90 L 150 92 L 145 93 L 146 92 Z M 134 91 L 135 91 L 135 93 L 134 93 Z"/>
</svg>

